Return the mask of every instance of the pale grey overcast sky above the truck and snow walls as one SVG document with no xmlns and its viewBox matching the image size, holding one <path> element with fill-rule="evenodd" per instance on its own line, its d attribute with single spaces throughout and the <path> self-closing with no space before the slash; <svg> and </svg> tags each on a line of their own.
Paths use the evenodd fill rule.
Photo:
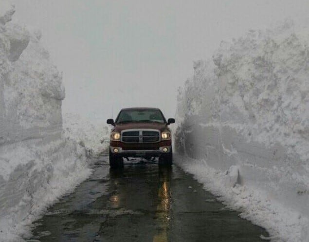
<svg viewBox="0 0 309 242">
<path fill-rule="evenodd" d="M 194 60 L 211 58 L 222 40 L 309 13 L 309 0 L 12 1 L 15 19 L 41 29 L 63 72 L 63 113 L 93 120 L 133 106 L 173 117 Z"/>
</svg>

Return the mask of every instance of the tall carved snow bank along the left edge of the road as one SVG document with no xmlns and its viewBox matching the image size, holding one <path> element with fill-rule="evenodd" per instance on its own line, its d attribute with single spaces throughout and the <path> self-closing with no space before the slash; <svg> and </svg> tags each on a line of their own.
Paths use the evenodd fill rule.
<svg viewBox="0 0 309 242">
<path fill-rule="evenodd" d="M 61 74 L 41 34 L 11 23 L 0 3 L 0 242 L 20 241 L 26 225 L 89 174 L 85 149 L 62 137 Z"/>
</svg>

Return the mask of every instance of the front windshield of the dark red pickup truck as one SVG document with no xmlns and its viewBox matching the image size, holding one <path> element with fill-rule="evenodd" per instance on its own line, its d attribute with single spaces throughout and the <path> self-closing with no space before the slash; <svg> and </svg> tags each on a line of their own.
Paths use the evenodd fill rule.
<svg viewBox="0 0 309 242">
<path fill-rule="evenodd" d="M 159 110 L 123 110 L 115 122 L 118 124 L 129 122 L 165 123 L 165 119 Z"/>
</svg>

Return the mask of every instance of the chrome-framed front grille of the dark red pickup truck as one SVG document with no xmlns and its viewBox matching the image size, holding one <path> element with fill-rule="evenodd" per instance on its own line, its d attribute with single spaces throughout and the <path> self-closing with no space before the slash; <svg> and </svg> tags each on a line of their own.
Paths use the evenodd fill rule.
<svg viewBox="0 0 309 242">
<path fill-rule="evenodd" d="M 156 143 L 160 141 L 159 130 L 123 130 L 121 141 L 125 143 Z"/>
</svg>

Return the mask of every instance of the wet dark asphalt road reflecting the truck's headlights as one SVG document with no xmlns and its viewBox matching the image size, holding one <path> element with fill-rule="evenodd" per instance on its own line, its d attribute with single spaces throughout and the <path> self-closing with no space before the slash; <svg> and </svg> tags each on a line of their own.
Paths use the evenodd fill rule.
<svg viewBox="0 0 309 242">
<path fill-rule="evenodd" d="M 224 209 L 181 168 L 130 162 L 91 177 L 36 222 L 32 242 L 264 242 L 267 232 Z"/>
</svg>

